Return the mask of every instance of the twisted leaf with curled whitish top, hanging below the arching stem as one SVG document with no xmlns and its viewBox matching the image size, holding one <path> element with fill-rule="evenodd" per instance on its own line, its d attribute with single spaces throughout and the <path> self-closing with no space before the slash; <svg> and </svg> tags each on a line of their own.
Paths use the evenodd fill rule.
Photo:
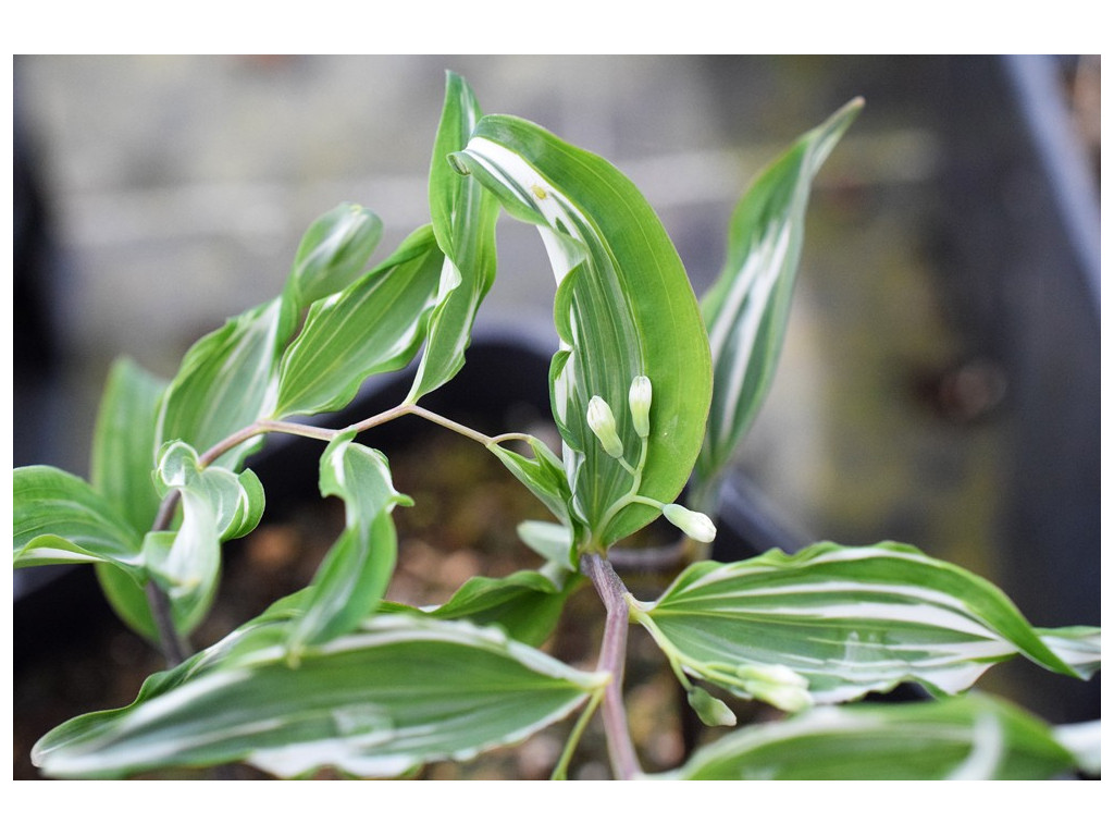
<svg viewBox="0 0 1114 836">
<path fill-rule="evenodd" d="M 321 456 L 321 495 L 344 500 L 344 532 L 313 579 L 305 611 L 291 625 L 290 654 L 352 630 L 378 606 L 394 572 L 398 543 L 391 511 L 412 505 L 391 483 L 387 457 L 339 436 Z"/>
</svg>

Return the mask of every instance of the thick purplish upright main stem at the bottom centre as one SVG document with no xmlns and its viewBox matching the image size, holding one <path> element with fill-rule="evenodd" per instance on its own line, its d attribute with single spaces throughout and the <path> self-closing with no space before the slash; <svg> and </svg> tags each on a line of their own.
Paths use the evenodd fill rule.
<svg viewBox="0 0 1114 836">
<path fill-rule="evenodd" d="M 593 552 L 584 555 L 580 571 L 592 581 L 607 611 L 597 665 L 598 670 L 610 674 L 604 689 L 604 732 L 615 777 L 631 780 L 642 775 L 642 767 L 638 766 L 638 756 L 634 750 L 623 706 L 623 669 L 626 663 L 627 623 L 631 618 L 629 593 L 612 564 L 599 554 Z"/>
</svg>

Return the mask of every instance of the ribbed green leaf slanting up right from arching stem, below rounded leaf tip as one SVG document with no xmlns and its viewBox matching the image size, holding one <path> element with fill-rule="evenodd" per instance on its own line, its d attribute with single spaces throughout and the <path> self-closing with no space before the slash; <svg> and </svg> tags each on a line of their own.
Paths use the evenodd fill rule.
<svg viewBox="0 0 1114 836">
<path fill-rule="evenodd" d="M 410 362 L 443 260 L 432 229 L 422 226 L 362 279 L 314 302 L 283 354 L 275 416 L 340 409 L 367 378 Z"/>
</svg>

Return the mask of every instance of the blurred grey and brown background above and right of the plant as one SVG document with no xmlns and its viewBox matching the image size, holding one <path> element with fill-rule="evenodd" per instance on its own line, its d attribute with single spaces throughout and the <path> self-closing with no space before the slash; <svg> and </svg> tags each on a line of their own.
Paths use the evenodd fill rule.
<svg viewBox="0 0 1114 836">
<path fill-rule="evenodd" d="M 14 464 L 87 475 L 110 361 L 173 376 L 339 202 L 381 215 L 380 254 L 424 223 L 447 69 L 623 169 L 698 293 L 750 178 L 863 96 L 725 515 L 786 547 L 909 542 L 1036 625 L 1098 624 L 1097 57 L 17 56 Z M 537 235 L 499 242 L 479 333 L 551 350 Z M 1098 716 L 1097 682 L 985 682 Z"/>
</svg>

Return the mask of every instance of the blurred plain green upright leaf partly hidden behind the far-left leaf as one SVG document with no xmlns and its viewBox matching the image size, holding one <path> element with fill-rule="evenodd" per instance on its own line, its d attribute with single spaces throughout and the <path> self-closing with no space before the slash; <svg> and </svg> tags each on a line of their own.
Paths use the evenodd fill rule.
<svg viewBox="0 0 1114 836">
<path fill-rule="evenodd" d="M 90 482 L 130 524 L 136 537 L 143 536 L 158 513 L 159 497 L 150 474 L 158 404 L 166 386 L 131 360 L 117 360 L 109 371 L 94 430 Z M 157 640 L 144 584 L 110 563 L 98 562 L 96 572 L 105 597 L 124 623 Z"/>
</svg>

